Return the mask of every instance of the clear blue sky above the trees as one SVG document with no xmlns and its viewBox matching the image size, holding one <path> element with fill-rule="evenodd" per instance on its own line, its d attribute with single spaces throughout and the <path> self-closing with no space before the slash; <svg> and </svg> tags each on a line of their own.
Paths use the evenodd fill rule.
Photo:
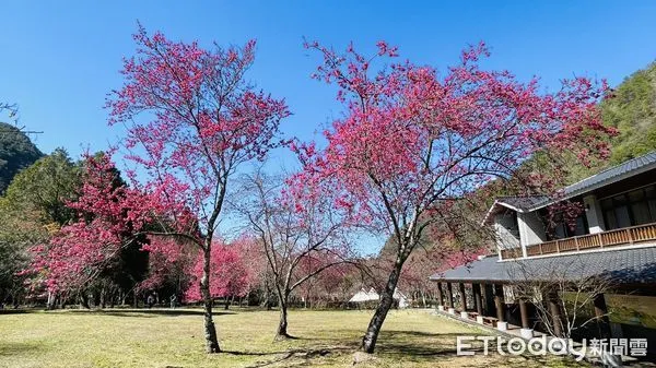
<svg viewBox="0 0 656 368">
<path fill-rule="evenodd" d="M 386 39 L 442 70 L 484 40 L 488 67 L 539 75 L 552 90 L 574 74 L 616 85 L 656 57 L 655 1 L 11 1 L 2 13 L 0 100 L 17 103 L 21 123 L 44 132 L 35 138 L 42 151 L 65 146 L 73 156 L 121 135 L 102 106 L 121 83 L 137 20 L 204 45 L 257 38 L 248 76 L 286 98 L 294 116 L 283 129 L 301 139 L 340 112 L 335 91 L 308 78 L 318 58 L 303 49 L 304 36 L 338 48 Z"/>
</svg>

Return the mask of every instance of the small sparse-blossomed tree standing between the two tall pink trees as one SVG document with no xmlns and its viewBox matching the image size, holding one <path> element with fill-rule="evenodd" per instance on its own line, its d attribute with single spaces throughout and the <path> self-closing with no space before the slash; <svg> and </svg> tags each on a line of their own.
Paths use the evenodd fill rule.
<svg viewBox="0 0 656 368">
<path fill-rule="evenodd" d="M 292 293 L 312 277 L 350 259 L 344 229 L 350 209 L 335 205 L 328 186 L 283 181 L 261 170 L 244 179 L 247 199 L 239 206 L 261 245 L 280 308 L 276 340 L 290 337 L 288 307 Z"/>
</svg>

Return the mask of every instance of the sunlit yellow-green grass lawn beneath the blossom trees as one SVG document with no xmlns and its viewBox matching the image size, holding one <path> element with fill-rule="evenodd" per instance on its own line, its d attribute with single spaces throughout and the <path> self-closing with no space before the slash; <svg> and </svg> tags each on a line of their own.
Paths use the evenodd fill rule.
<svg viewBox="0 0 656 368">
<path fill-rule="evenodd" d="M 215 317 L 225 353 L 203 353 L 200 309 L 65 310 L 0 314 L 0 367 L 348 367 L 370 311 L 290 312 L 290 333 L 273 342 L 276 311 Z M 483 334 L 427 311 L 393 311 L 372 360 L 359 367 L 577 366 L 561 358 L 456 356 L 456 335 Z"/>
</svg>

